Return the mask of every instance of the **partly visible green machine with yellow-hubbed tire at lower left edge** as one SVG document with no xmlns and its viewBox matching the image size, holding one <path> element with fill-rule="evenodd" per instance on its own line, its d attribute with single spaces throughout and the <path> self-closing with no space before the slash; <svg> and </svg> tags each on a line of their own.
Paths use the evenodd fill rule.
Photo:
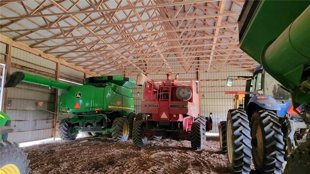
<svg viewBox="0 0 310 174">
<path fill-rule="evenodd" d="M 0 111 L 0 174 L 29 174 L 28 154 L 16 142 L 7 141 L 11 118 Z"/>
</svg>

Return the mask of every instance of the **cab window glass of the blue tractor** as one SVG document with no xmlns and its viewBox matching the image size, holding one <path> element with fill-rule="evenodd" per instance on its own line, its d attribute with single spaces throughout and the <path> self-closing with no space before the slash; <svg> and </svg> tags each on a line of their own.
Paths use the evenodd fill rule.
<svg viewBox="0 0 310 174">
<path fill-rule="evenodd" d="M 264 72 L 264 95 L 270 95 L 276 100 L 291 100 L 291 94 L 280 87 L 280 83 Z"/>
</svg>

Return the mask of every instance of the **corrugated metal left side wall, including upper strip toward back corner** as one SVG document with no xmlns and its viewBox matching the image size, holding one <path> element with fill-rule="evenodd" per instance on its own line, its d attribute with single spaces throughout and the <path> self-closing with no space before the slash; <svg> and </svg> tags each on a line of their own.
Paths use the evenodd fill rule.
<svg viewBox="0 0 310 174">
<path fill-rule="evenodd" d="M 0 60 L 5 61 L 6 47 L 0 43 Z M 20 48 L 11 49 L 11 69 L 15 71 L 39 75 L 48 79 L 55 79 L 57 63 L 37 56 Z M 59 79 L 83 83 L 84 72 L 60 64 Z M 64 81 L 66 80 L 66 81 Z M 46 86 L 21 82 L 15 88 L 8 89 L 7 114 L 11 117 L 11 127 L 15 132 L 10 133 L 8 139 L 14 142 L 27 142 L 39 139 L 51 138 L 55 135 L 55 118 L 57 105 L 56 96 L 63 91 L 49 89 Z M 43 101 L 43 107 L 38 108 L 36 102 Z M 47 111 L 51 112 L 47 112 Z"/>
</svg>

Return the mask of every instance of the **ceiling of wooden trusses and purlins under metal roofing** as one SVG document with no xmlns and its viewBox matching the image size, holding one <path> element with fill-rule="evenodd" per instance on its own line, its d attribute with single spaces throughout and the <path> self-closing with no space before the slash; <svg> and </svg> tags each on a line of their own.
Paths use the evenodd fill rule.
<svg viewBox="0 0 310 174">
<path fill-rule="evenodd" d="M 2 0 L 0 32 L 97 74 L 227 71 L 224 64 L 251 70 L 257 63 L 238 48 L 243 4 Z"/>
</svg>

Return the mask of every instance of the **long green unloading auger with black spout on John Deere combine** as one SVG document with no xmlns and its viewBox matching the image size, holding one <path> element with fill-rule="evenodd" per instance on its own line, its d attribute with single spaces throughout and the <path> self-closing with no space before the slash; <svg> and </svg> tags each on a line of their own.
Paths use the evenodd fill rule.
<svg viewBox="0 0 310 174">
<path fill-rule="evenodd" d="M 70 84 L 67 84 L 67 83 L 62 83 L 56 80 L 47 79 L 47 78 L 43 78 L 40 76 L 16 71 L 12 73 L 12 75 L 8 78 L 4 87 L 5 88 L 16 87 L 16 85 L 18 85 L 21 81 L 27 82 L 27 83 L 44 85 L 44 86 L 48 86 L 51 88 L 63 89 L 63 90 L 68 90 L 71 86 Z"/>
</svg>

